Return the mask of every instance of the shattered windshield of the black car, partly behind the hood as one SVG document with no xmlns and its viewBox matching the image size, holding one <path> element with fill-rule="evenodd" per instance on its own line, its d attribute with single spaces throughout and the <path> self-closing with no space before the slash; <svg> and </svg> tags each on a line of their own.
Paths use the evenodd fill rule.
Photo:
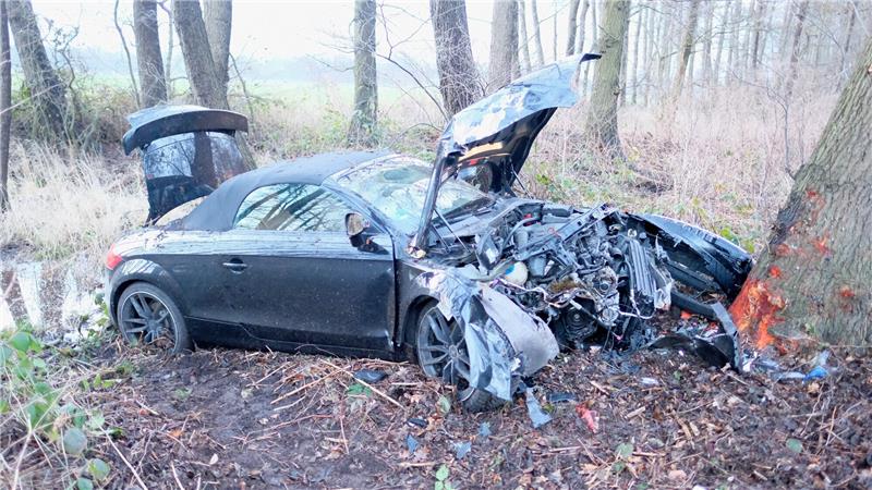
<svg viewBox="0 0 872 490">
<path fill-rule="evenodd" d="M 397 230 L 411 235 L 417 231 L 431 172 L 433 168 L 421 160 L 395 157 L 341 175 L 336 183 L 356 193 Z M 436 209 L 446 218 L 492 204 L 487 194 L 457 179 L 444 182 L 436 198 Z"/>
</svg>

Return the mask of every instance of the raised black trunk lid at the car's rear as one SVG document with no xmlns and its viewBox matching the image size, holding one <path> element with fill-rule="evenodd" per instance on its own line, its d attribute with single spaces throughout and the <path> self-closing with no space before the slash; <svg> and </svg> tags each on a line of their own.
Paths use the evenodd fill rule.
<svg viewBox="0 0 872 490">
<path fill-rule="evenodd" d="M 124 152 L 140 148 L 148 191 L 148 222 L 211 193 L 249 169 L 237 131 L 249 121 L 237 112 L 199 106 L 155 106 L 128 117 Z"/>
</svg>

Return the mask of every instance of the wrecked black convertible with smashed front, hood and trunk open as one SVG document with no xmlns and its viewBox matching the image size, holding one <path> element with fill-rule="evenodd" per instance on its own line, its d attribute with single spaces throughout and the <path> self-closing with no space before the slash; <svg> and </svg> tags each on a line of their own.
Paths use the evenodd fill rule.
<svg viewBox="0 0 872 490">
<path fill-rule="evenodd" d="M 162 169 L 186 159 L 162 172 L 183 185 L 160 187 L 149 219 L 168 207 L 154 204 L 208 195 L 184 218 L 112 245 L 112 322 L 130 342 L 173 352 L 410 359 L 457 385 L 471 411 L 510 400 L 560 348 L 643 346 L 647 321 L 673 305 L 717 322 L 713 302 L 731 299 L 752 265 L 739 247 L 669 218 L 519 195 L 536 136 L 577 102 L 579 66 L 596 58 L 552 64 L 459 112 L 434 162 L 325 154 L 211 189 L 203 175 L 220 173 L 215 151 L 243 130 L 238 119 L 195 107 L 132 118 L 125 148 L 143 151 L 147 184 L 155 145 Z M 193 151 L 166 149 L 180 134 Z M 205 144 L 215 137 L 220 145 Z M 737 358 L 725 327 L 694 340 L 723 364 Z"/>
</svg>

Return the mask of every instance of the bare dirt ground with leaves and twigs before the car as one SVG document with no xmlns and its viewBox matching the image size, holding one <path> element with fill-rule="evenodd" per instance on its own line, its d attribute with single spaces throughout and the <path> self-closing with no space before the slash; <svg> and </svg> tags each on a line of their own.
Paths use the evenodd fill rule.
<svg viewBox="0 0 872 490">
<path fill-rule="evenodd" d="M 461 414 L 408 364 L 118 344 L 96 363 L 119 358 L 133 373 L 88 395 L 122 429 L 94 449 L 110 488 L 872 488 L 872 362 L 838 352 L 804 383 L 675 352 L 561 355 L 535 379 L 538 429 L 522 399 Z M 367 387 L 363 368 L 388 376 Z"/>
</svg>

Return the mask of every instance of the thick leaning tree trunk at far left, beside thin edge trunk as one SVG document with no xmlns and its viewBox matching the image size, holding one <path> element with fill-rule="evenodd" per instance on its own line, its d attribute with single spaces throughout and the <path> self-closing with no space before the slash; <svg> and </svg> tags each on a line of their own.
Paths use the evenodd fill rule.
<svg viewBox="0 0 872 490">
<path fill-rule="evenodd" d="M 66 142 L 66 87 L 51 66 L 43 45 L 43 36 L 29 0 L 7 2 L 9 27 L 15 38 L 15 48 L 24 79 L 37 109 L 44 136 L 55 142 Z"/>
</svg>

